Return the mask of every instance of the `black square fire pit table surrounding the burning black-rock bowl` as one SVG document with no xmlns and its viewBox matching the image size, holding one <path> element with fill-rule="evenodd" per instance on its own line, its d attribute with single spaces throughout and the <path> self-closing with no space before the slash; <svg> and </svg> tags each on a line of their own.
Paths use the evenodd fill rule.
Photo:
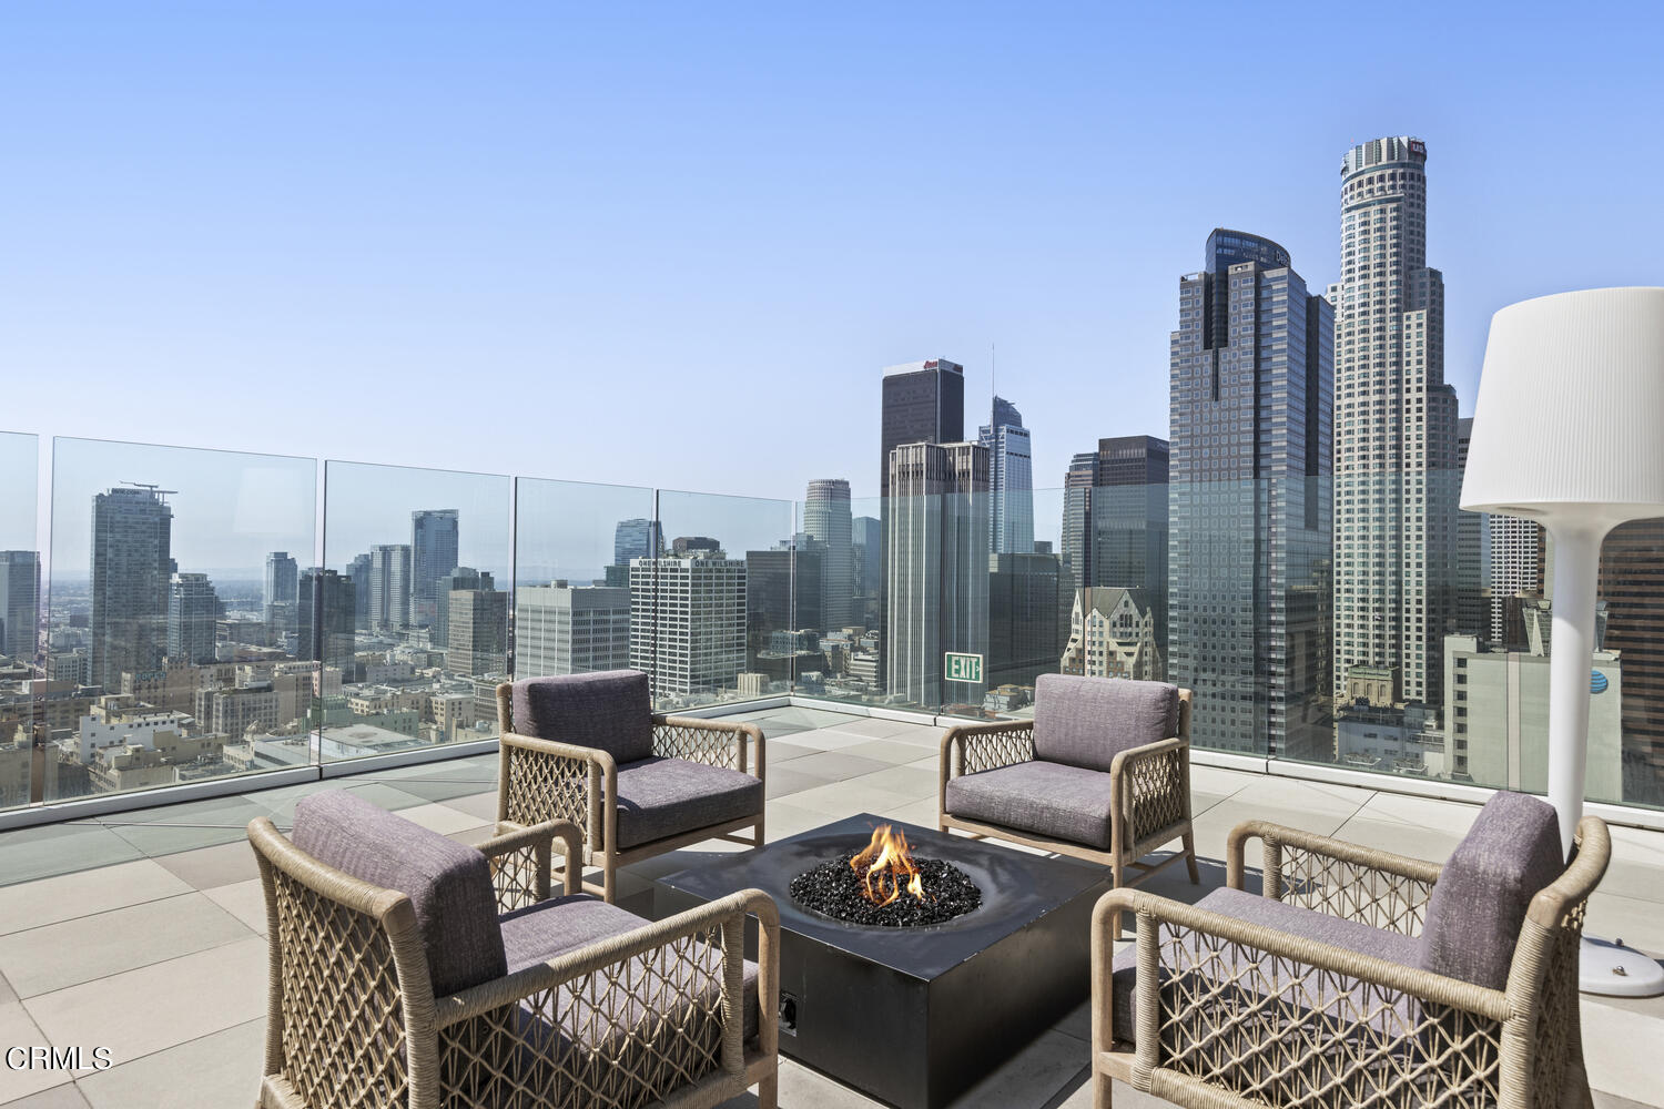
<svg viewBox="0 0 1664 1109">
<path fill-rule="evenodd" d="M 874 828 L 943 860 L 982 903 L 942 924 L 845 924 L 792 878 L 867 846 Z M 1090 994 L 1092 906 L 1110 871 L 862 813 L 659 878 L 654 916 L 765 890 L 780 906 L 780 1051 L 902 1109 L 938 1109 Z M 747 939 L 755 953 L 755 936 Z M 1085 1062 L 1083 1062 L 1085 1066 Z"/>
</svg>

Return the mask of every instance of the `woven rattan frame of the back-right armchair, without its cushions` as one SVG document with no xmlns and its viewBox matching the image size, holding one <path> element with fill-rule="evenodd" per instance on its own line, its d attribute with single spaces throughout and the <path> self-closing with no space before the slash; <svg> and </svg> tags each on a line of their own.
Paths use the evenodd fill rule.
<svg viewBox="0 0 1664 1109">
<path fill-rule="evenodd" d="M 1115 798 L 1115 806 L 1110 816 L 1108 851 L 965 820 L 947 811 L 950 780 L 965 773 L 1033 762 L 1033 720 L 962 723 L 942 735 L 937 823 L 942 831 L 957 830 L 978 840 L 1005 840 L 1102 863 L 1113 871 L 1117 886 L 1138 885 L 1180 860 L 1190 870 L 1190 881 L 1198 883 L 1201 875 L 1196 870 L 1196 833 L 1190 821 L 1190 690 L 1178 692 L 1178 735 L 1133 747 L 1110 762 L 1105 783 Z M 1158 863 L 1143 861 L 1146 855 L 1173 840 L 1181 841 L 1181 851 Z M 1118 921 L 1117 929 L 1120 929 Z"/>
</svg>

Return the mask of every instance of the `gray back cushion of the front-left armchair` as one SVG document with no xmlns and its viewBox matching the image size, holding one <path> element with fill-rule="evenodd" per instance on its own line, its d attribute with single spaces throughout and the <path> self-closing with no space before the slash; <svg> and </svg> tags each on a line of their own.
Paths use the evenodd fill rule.
<svg viewBox="0 0 1664 1109">
<path fill-rule="evenodd" d="M 319 863 L 411 900 L 436 998 L 508 973 L 491 865 L 474 848 L 344 790 L 303 798 L 293 840 Z"/>
</svg>

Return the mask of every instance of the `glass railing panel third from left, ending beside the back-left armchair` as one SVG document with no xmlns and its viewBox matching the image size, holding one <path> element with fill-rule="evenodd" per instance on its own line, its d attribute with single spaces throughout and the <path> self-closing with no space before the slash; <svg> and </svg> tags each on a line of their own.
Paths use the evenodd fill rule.
<svg viewBox="0 0 1664 1109">
<path fill-rule="evenodd" d="M 498 733 L 511 495 L 498 474 L 324 464 L 323 760 Z"/>
</svg>

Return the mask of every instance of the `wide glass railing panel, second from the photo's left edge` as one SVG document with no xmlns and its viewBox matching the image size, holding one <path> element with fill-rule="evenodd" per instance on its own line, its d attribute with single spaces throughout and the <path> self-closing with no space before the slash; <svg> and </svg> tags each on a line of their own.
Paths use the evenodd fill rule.
<svg viewBox="0 0 1664 1109">
<path fill-rule="evenodd" d="M 55 439 L 45 800 L 311 762 L 318 464 Z"/>
</svg>

